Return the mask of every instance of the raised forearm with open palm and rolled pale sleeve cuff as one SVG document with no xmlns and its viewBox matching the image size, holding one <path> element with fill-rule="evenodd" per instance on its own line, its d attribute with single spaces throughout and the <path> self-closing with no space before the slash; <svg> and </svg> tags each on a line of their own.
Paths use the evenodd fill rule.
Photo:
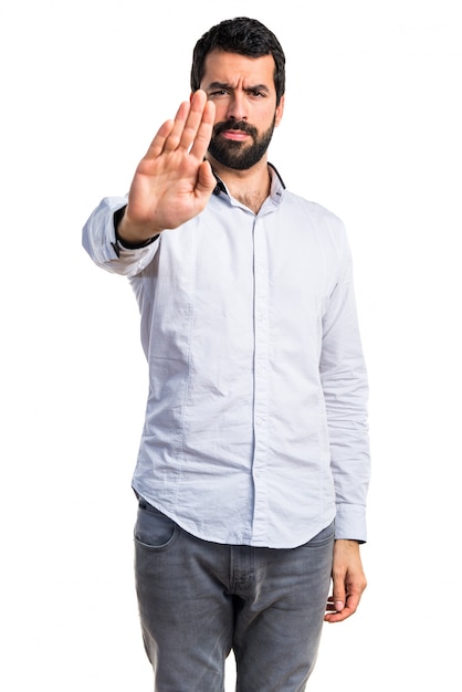
<svg viewBox="0 0 462 692">
<path fill-rule="evenodd" d="M 213 117 L 214 105 L 203 92 L 196 92 L 190 103 L 180 105 L 176 118 L 160 127 L 136 169 L 128 197 L 105 198 L 93 211 L 83 229 L 83 245 L 96 264 L 137 274 L 156 252 L 156 237 L 202 211 L 217 184 L 203 160 Z"/>
</svg>

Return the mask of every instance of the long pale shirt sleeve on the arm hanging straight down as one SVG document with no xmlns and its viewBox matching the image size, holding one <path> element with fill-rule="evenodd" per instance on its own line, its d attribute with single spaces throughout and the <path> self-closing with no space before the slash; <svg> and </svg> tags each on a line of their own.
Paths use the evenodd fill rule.
<svg viewBox="0 0 462 692">
<path fill-rule="evenodd" d="M 359 335 L 351 256 L 343 235 L 340 271 L 323 321 L 319 371 L 336 495 L 336 538 L 364 543 L 370 478 L 368 381 Z"/>
</svg>

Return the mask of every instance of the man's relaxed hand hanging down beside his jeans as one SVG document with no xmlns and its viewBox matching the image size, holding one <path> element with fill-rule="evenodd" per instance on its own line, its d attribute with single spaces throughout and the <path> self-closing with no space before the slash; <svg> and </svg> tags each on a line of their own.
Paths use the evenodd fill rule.
<svg viewBox="0 0 462 692">
<path fill-rule="evenodd" d="M 367 586 L 356 541 L 334 543 L 332 579 L 333 593 L 327 599 L 324 619 L 326 622 L 342 622 L 356 612 Z"/>
</svg>

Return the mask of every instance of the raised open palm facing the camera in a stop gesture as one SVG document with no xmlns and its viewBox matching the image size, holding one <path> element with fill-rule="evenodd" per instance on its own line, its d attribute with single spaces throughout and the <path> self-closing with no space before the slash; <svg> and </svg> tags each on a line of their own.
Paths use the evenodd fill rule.
<svg viewBox="0 0 462 692">
<path fill-rule="evenodd" d="M 204 160 L 213 120 L 214 104 L 197 91 L 164 123 L 132 181 L 118 227 L 123 240 L 143 242 L 202 211 L 217 184 Z"/>
</svg>

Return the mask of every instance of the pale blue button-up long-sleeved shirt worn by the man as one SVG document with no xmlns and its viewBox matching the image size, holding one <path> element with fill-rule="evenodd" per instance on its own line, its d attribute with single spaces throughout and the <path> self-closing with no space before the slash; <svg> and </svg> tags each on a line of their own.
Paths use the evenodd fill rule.
<svg viewBox="0 0 462 692">
<path fill-rule="evenodd" d="M 136 492 L 207 541 L 291 548 L 334 517 L 337 538 L 366 541 L 367 376 L 342 221 L 272 170 L 258 214 L 220 182 L 195 219 L 128 250 L 126 202 L 104 199 L 83 242 L 139 304 Z"/>
</svg>

